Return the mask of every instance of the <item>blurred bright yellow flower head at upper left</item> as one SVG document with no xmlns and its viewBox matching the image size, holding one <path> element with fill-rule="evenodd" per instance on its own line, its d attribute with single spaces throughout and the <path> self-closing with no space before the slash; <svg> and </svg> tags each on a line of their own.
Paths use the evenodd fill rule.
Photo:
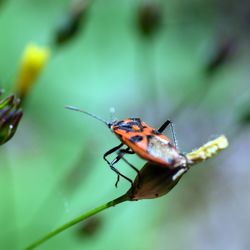
<svg viewBox="0 0 250 250">
<path fill-rule="evenodd" d="M 50 56 L 49 48 L 29 44 L 21 58 L 17 77 L 16 93 L 25 98 Z"/>
</svg>

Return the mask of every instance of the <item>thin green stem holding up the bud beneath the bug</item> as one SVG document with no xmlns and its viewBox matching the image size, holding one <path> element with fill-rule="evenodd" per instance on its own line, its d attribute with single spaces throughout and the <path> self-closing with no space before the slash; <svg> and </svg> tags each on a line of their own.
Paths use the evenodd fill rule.
<svg viewBox="0 0 250 250">
<path fill-rule="evenodd" d="M 35 241 L 34 243 L 32 243 L 31 245 L 29 245 L 27 248 L 25 248 L 26 250 L 29 250 L 29 249 L 34 249 L 36 247 L 38 247 L 39 245 L 43 244 L 44 242 L 46 242 L 47 240 L 49 240 L 50 238 L 56 236 L 57 234 L 63 232 L 64 230 L 74 226 L 75 224 L 109 208 L 109 207 L 113 207 L 113 206 L 116 206 L 124 201 L 128 201 L 129 200 L 129 196 L 127 194 L 125 195 L 122 195 L 104 205 L 101 205 L 97 208 L 94 208 L 90 211 L 88 211 L 87 213 L 84 213 L 78 217 L 76 217 L 75 219 L 65 223 L 64 225 L 60 226 L 59 228 L 49 232 L 48 234 L 46 234 L 44 237 L 42 237 L 41 239 Z"/>
</svg>

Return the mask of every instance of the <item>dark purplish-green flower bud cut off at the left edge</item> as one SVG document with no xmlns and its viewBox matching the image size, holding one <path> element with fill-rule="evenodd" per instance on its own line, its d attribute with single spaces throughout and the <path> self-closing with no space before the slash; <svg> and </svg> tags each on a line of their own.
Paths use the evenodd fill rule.
<svg viewBox="0 0 250 250">
<path fill-rule="evenodd" d="M 19 106 L 20 100 L 14 95 L 0 101 L 0 145 L 10 140 L 16 132 L 22 117 L 22 110 Z"/>
</svg>

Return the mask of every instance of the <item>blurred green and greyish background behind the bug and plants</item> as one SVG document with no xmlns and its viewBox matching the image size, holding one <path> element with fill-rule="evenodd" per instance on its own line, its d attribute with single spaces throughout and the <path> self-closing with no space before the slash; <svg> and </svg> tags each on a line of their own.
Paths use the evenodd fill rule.
<svg viewBox="0 0 250 250">
<path fill-rule="evenodd" d="M 40 249 L 250 249 L 249 2 L 162 0 L 145 12 L 145 1 L 93 0 L 77 34 L 55 44 L 71 4 L 0 2 L 6 93 L 28 43 L 52 48 L 16 135 L 0 149 L 0 249 L 22 249 L 129 188 L 124 180 L 114 187 L 102 159 L 117 138 L 65 105 L 105 119 L 115 107 L 117 118 L 141 117 L 153 127 L 171 119 L 184 153 L 220 134 L 230 147 L 167 196 L 110 208 Z M 123 162 L 119 169 L 134 178 Z"/>
</svg>

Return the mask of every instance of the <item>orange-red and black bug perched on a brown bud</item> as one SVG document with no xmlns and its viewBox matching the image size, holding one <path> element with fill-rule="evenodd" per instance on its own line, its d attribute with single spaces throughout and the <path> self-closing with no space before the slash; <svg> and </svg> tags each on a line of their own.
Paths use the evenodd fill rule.
<svg viewBox="0 0 250 250">
<path fill-rule="evenodd" d="M 111 148 L 103 155 L 103 159 L 117 174 L 116 186 L 120 176 L 133 184 L 131 179 L 120 173 L 119 170 L 114 167 L 119 160 L 123 159 L 130 167 L 139 173 L 139 170 L 123 157 L 126 154 L 137 154 L 144 160 L 170 169 L 187 166 L 186 157 L 180 153 L 171 140 L 163 134 L 163 131 L 169 125 L 172 126 L 170 120 L 164 122 L 159 129 L 155 129 L 143 122 L 140 118 L 127 118 L 124 120 L 107 122 L 99 116 L 77 107 L 66 106 L 66 108 L 87 114 L 103 122 L 121 141 L 118 146 Z M 123 146 L 126 146 L 126 148 L 122 148 Z M 107 157 L 115 152 L 117 152 L 117 156 L 110 162 Z"/>
</svg>

